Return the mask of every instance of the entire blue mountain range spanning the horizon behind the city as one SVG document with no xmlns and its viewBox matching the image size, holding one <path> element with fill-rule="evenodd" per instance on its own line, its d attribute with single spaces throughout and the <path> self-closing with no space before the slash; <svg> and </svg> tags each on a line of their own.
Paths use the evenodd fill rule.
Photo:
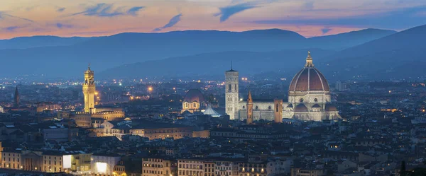
<svg viewBox="0 0 426 176">
<path fill-rule="evenodd" d="M 426 36 L 426 30 L 425 26 L 417 28 L 420 29 L 399 33 L 366 29 L 311 38 L 278 29 L 121 33 L 105 37 L 18 37 L 0 40 L 0 58 L 6 65 L 0 76 L 78 77 L 89 63 L 97 72 L 97 78 L 222 75 L 232 60 L 234 68 L 241 74 L 278 71 L 290 77 L 303 66 L 307 50 L 312 51 L 314 63 L 327 78 L 353 78 L 359 76 L 358 73 L 368 76 L 374 75 L 375 71 L 386 75 L 392 71 L 398 73 L 398 69 L 421 60 L 417 54 L 422 54 L 425 49 L 417 45 L 420 44 L 417 41 Z M 410 42 L 412 40 L 415 42 Z M 391 48 L 398 54 L 389 56 Z M 408 53 L 416 48 L 420 50 Z M 405 58 L 410 54 L 417 56 L 417 60 Z M 388 59 L 380 60 L 376 56 Z M 393 61 L 391 68 L 382 63 L 374 65 L 373 70 L 364 70 L 372 67 L 371 63 L 384 60 Z M 370 65 L 365 66 L 366 63 Z M 357 69 L 360 66 L 361 69 Z"/>
</svg>

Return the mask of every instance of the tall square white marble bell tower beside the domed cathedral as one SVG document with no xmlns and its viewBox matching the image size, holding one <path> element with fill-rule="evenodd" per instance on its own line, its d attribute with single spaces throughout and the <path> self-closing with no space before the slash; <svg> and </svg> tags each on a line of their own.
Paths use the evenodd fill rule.
<svg viewBox="0 0 426 176">
<path fill-rule="evenodd" d="M 225 98 L 226 115 L 229 115 L 229 119 L 239 119 L 239 74 L 232 69 L 232 64 L 231 69 L 225 71 Z"/>
</svg>

